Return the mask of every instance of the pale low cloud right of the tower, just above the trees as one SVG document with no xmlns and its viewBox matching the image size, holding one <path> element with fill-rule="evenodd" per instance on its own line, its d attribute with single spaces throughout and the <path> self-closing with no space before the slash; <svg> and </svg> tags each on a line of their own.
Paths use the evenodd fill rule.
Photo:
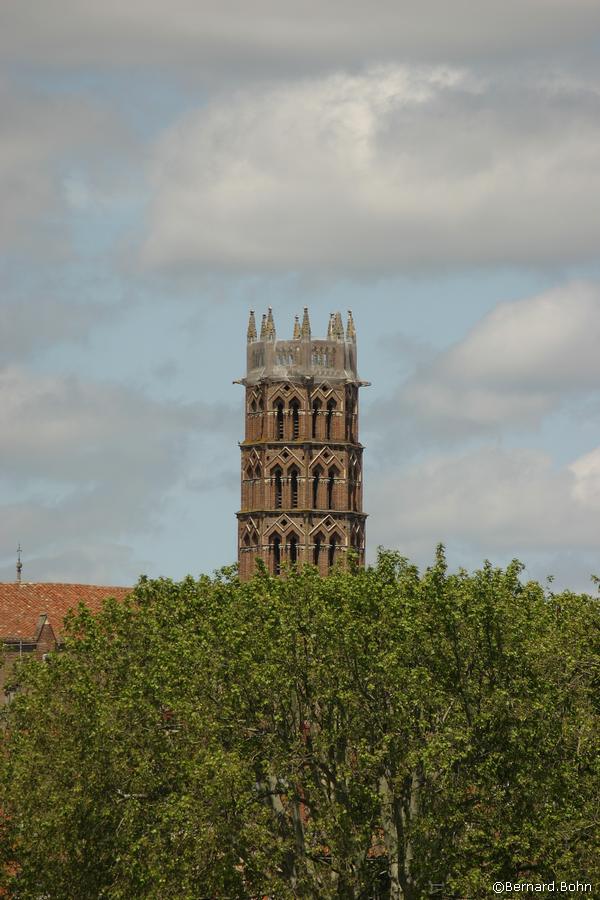
<svg viewBox="0 0 600 900">
<path fill-rule="evenodd" d="M 371 476 L 369 541 L 420 560 L 439 541 L 471 558 L 600 550 L 600 448 L 556 467 L 544 452 L 481 447 Z"/>
</svg>

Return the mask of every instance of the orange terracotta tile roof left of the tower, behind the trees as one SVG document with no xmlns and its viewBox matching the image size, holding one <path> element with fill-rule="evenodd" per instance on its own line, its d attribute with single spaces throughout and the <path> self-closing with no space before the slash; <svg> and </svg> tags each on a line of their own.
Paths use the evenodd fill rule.
<svg viewBox="0 0 600 900">
<path fill-rule="evenodd" d="M 97 612 L 107 597 L 123 600 L 131 588 L 97 584 L 0 583 L 0 639 L 33 640 L 41 615 L 58 635 L 67 610 L 80 600 Z"/>
</svg>

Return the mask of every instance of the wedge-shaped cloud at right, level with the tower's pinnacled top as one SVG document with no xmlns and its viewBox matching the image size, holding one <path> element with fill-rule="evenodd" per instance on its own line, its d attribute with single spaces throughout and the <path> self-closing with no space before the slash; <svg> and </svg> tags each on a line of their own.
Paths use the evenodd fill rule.
<svg viewBox="0 0 600 900">
<path fill-rule="evenodd" d="M 375 404 L 404 433 L 464 438 L 538 428 L 600 387 L 600 285 L 571 283 L 499 304 L 458 343 Z"/>
</svg>

